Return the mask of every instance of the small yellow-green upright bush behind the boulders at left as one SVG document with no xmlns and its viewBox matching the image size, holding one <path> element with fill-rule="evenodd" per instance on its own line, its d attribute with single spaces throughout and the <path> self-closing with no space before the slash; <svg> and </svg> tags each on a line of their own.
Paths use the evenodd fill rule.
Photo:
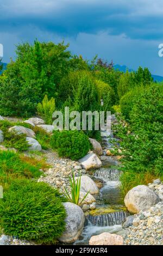
<svg viewBox="0 0 163 256">
<path fill-rule="evenodd" d="M 54 110 L 55 100 L 53 97 L 48 100 L 47 95 L 43 98 L 42 103 L 37 105 L 37 112 L 45 120 L 46 124 L 52 124 L 52 114 Z"/>
</svg>

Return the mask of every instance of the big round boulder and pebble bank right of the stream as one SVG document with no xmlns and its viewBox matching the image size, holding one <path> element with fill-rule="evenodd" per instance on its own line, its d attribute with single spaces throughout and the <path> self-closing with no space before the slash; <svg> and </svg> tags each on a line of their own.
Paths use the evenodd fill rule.
<svg viewBox="0 0 163 256">
<path fill-rule="evenodd" d="M 125 245 L 163 245 L 163 184 L 157 179 L 148 186 L 137 186 L 125 198 L 126 206 L 137 213 L 123 224 Z"/>
</svg>

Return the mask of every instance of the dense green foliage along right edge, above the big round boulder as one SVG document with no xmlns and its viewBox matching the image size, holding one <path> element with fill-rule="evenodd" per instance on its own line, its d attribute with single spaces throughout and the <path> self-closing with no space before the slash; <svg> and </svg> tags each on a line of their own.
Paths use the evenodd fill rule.
<svg viewBox="0 0 163 256">
<path fill-rule="evenodd" d="M 139 90 L 129 112 L 128 125 L 120 125 L 117 136 L 122 139 L 122 186 L 137 174 L 138 179 L 163 178 L 163 87 L 160 84 Z M 150 174 L 150 175 L 149 175 Z M 131 175 L 131 177 L 130 177 Z"/>
</svg>

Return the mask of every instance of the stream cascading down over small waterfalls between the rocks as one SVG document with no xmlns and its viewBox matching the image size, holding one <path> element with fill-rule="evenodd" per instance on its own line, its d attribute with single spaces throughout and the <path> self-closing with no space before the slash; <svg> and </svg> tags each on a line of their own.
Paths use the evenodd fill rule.
<svg viewBox="0 0 163 256">
<path fill-rule="evenodd" d="M 111 148 L 112 136 L 103 138 L 104 148 Z M 74 245 L 89 245 L 89 240 L 93 235 L 103 232 L 123 233 L 122 224 L 126 221 L 128 212 L 124 206 L 121 194 L 121 171 L 116 169 L 118 162 L 114 157 L 103 156 L 103 166 L 91 175 L 95 182 L 102 182 L 96 199 L 96 210 L 91 210 L 86 215 L 85 226 L 82 235 L 74 242 Z"/>
</svg>

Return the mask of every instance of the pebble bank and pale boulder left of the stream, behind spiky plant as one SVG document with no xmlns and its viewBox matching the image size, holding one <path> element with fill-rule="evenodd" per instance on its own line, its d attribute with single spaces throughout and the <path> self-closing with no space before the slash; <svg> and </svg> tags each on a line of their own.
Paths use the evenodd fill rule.
<svg viewBox="0 0 163 256">
<path fill-rule="evenodd" d="M 95 182 L 86 174 L 84 166 L 80 162 L 58 158 L 57 153 L 52 151 L 49 151 L 46 157 L 52 168 L 49 168 L 45 175 L 41 175 L 38 181 L 46 182 L 58 188 L 61 193 L 65 193 L 65 187 L 70 191 L 69 177 L 72 176 L 72 172 L 76 179 L 78 179 L 79 174 L 82 174 L 79 200 L 81 202 L 86 193 L 89 192 L 82 202 L 82 209 L 83 211 L 94 210 L 96 208 L 96 200 L 93 194 L 98 193 L 99 190 Z"/>
</svg>

